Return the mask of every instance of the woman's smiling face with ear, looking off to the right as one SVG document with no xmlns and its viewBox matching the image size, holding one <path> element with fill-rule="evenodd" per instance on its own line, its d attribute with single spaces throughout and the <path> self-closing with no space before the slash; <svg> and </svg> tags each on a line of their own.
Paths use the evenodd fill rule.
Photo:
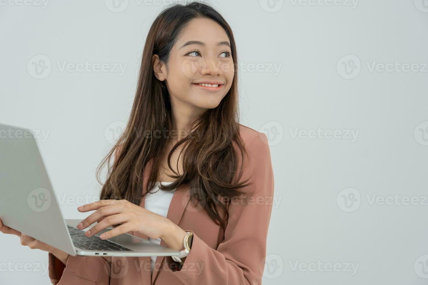
<svg viewBox="0 0 428 285">
<path fill-rule="evenodd" d="M 168 69 L 157 55 L 153 59 L 155 75 L 165 80 L 171 103 L 187 105 L 198 115 L 217 107 L 232 85 L 229 38 L 211 19 L 196 18 L 183 29 L 170 52 Z"/>
</svg>

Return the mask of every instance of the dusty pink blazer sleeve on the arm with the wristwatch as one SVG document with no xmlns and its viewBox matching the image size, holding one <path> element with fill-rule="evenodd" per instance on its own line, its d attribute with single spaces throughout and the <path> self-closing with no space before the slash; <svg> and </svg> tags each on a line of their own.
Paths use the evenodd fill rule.
<svg viewBox="0 0 428 285">
<path fill-rule="evenodd" d="M 261 284 L 265 266 L 266 239 L 273 200 L 273 170 L 268 138 L 252 137 L 247 145 L 249 163 L 241 180 L 253 194 L 247 203 L 229 204 L 224 240 L 217 249 L 209 247 L 194 233 L 190 253 L 182 266 L 166 257 L 166 267 L 184 284 Z M 245 162 L 245 161 L 244 161 Z"/>
</svg>

